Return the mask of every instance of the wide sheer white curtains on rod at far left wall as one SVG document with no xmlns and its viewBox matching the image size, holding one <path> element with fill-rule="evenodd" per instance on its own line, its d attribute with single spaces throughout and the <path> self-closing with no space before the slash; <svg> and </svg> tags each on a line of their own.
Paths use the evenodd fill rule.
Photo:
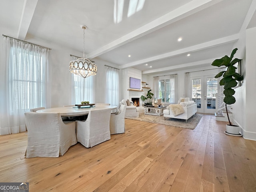
<svg viewBox="0 0 256 192">
<path fill-rule="evenodd" d="M 4 36 L 0 63 L 0 134 L 26 131 L 24 113 L 50 107 L 49 49 Z"/>
</svg>

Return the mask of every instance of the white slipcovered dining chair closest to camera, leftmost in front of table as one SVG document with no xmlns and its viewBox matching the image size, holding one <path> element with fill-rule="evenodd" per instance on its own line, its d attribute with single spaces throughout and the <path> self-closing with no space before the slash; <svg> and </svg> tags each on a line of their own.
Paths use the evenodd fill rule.
<svg viewBox="0 0 256 192">
<path fill-rule="evenodd" d="M 76 122 L 63 122 L 60 113 L 25 113 L 28 130 L 26 158 L 58 157 L 77 143 Z"/>
</svg>

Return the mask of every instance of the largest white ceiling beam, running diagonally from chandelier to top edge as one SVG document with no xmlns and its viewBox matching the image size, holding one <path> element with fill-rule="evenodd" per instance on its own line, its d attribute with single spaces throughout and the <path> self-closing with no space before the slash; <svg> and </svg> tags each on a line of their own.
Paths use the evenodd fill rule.
<svg viewBox="0 0 256 192">
<path fill-rule="evenodd" d="M 167 26 L 167 25 L 174 23 L 178 20 L 186 18 L 196 12 L 199 12 L 205 8 L 208 8 L 220 1 L 222 1 L 222 0 L 192 0 L 189 3 L 165 14 L 164 16 L 161 16 L 160 18 L 157 18 L 156 20 L 134 30 L 133 32 L 130 32 L 130 33 L 122 36 L 121 38 L 118 38 L 118 39 L 110 42 L 109 44 L 102 46 L 98 50 L 88 53 L 86 55 L 86 58 L 94 58 L 96 56 L 104 54 L 104 53 L 106 53 L 110 50 L 113 50 L 115 48 L 118 48 L 119 46 L 122 46 L 128 42 L 131 42 L 131 41 L 136 40 L 142 36 L 145 36 L 146 34 L 154 32 L 164 26 Z"/>
</svg>

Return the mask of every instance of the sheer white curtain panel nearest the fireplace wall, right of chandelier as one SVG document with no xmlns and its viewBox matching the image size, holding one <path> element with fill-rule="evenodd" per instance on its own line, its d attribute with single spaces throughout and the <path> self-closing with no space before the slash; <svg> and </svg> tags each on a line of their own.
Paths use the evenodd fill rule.
<svg viewBox="0 0 256 192">
<path fill-rule="evenodd" d="M 105 65 L 106 103 L 118 106 L 120 102 L 120 70 Z"/>
</svg>

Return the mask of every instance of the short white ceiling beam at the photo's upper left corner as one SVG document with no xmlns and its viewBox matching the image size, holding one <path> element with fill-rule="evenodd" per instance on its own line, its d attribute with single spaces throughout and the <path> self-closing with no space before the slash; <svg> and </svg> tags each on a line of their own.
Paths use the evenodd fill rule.
<svg viewBox="0 0 256 192">
<path fill-rule="evenodd" d="M 23 4 L 20 26 L 18 30 L 18 39 L 25 40 L 28 33 L 31 20 L 33 18 L 38 0 L 25 0 Z"/>
</svg>

